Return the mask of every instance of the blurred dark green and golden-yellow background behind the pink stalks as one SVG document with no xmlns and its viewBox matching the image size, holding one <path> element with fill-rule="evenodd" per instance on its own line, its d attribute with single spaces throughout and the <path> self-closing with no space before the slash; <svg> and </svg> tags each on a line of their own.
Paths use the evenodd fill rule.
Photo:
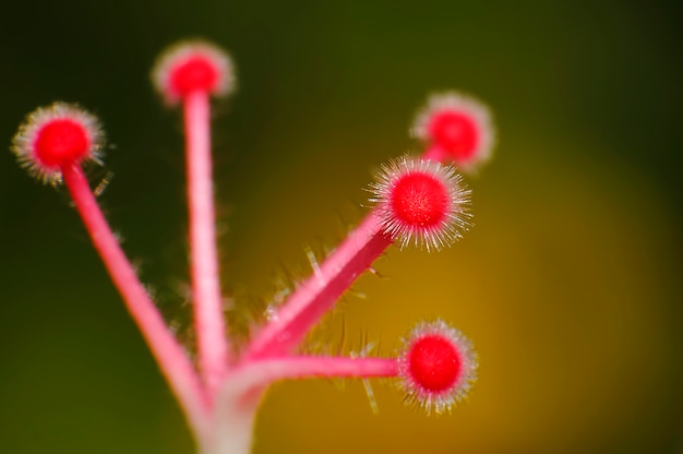
<svg viewBox="0 0 683 454">
<path fill-rule="evenodd" d="M 101 196 L 167 313 L 182 313 L 179 116 L 149 68 L 205 37 L 239 92 L 216 105 L 226 294 L 267 298 L 334 246 L 429 93 L 484 99 L 499 132 L 451 250 L 392 250 L 320 339 L 391 354 L 444 318 L 481 358 L 471 399 L 428 418 L 374 384 L 279 384 L 256 453 L 683 452 L 683 14 L 666 1 L 11 2 L 0 138 L 61 99 L 108 133 Z M 107 172 L 111 174 L 107 174 Z M 339 222 L 339 219 L 344 219 Z M 175 315 L 177 319 L 181 315 Z M 169 391 L 63 191 L 0 154 L 0 452 L 190 453 Z"/>
</svg>

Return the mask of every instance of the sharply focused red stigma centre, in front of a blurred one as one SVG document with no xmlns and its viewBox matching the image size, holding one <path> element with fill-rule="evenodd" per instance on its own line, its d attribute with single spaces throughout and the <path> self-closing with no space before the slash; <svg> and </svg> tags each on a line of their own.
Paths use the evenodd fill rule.
<svg viewBox="0 0 683 454">
<path fill-rule="evenodd" d="M 396 181 L 390 200 L 394 215 L 410 226 L 441 224 L 448 210 L 448 192 L 427 174 L 407 174 Z"/>
</svg>

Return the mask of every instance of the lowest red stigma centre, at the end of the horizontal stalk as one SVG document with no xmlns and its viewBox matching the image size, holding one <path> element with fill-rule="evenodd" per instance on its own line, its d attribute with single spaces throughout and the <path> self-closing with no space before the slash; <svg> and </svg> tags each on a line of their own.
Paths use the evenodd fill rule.
<svg viewBox="0 0 683 454">
<path fill-rule="evenodd" d="M 428 393 L 451 390 L 462 370 L 462 359 L 453 343 L 441 335 L 417 339 L 408 353 L 408 373 Z"/>
</svg>

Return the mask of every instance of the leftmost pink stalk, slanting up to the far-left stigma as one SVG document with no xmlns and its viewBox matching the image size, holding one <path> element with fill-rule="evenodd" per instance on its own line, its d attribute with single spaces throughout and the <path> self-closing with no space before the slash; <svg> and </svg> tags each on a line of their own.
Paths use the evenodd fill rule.
<svg viewBox="0 0 683 454">
<path fill-rule="evenodd" d="M 77 164 L 65 165 L 61 171 L 83 224 L 113 284 L 123 296 L 128 311 L 149 345 L 195 435 L 200 440 L 203 439 L 211 430 L 209 405 L 190 360 L 166 327 L 161 315 L 123 254 L 81 167 Z"/>
</svg>

